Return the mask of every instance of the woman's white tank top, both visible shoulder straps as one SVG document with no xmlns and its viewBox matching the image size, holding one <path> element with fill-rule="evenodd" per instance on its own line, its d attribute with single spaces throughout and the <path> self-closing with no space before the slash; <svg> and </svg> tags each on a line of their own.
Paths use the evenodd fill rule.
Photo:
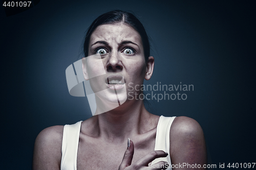
<svg viewBox="0 0 256 170">
<path fill-rule="evenodd" d="M 170 126 L 173 123 L 173 117 L 164 117 L 160 116 L 158 124 L 157 124 L 157 134 L 156 134 L 156 143 L 155 143 L 155 151 L 162 150 L 168 153 L 167 157 L 157 158 L 152 164 L 157 163 L 159 161 L 168 162 L 168 168 L 166 170 L 172 169 L 172 162 L 170 161 L 170 140 L 169 140 L 169 132 Z M 63 129 L 63 138 L 62 138 L 62 147 L 61 147 L 61 162 L 60 162 L 60 170 L 77 170 L 76 162 L 77 162 L 77 151 L 78 151 L 78 142 L 79 142 L 79 134 L 81 123 L 77 122 L 73 125 L 65 125 Z"/>
</svg>

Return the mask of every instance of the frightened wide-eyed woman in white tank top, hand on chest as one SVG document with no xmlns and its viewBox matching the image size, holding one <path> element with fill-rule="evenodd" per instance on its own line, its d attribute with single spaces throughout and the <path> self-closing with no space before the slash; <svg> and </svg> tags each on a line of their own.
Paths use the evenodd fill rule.
<svg viewBox="0 0 256 170">
<path fill-rule="evenodd" d="M 64 129 L 53 126 L 41 131 L 33 169 L 189 169 L 180 165 L 202 168 L 207 163 L 203 131 L 196 120 L 159 117 L 135 98 L 143 91 L 134 87 L 153 74 L 154 58 L 148 57 L 147 34 L 133 14 L 111 11 L 95 19 L 84 40 L 84 54 L 100 55 L 105 69 L 105 80 L 90 82 L 92 88 L 102 84 L 108 89 L 96 95 L 96 101 L 108 105 L 117 99 L 119 105 Z M 83 64 L 86 80 L 88 72 Z M 127 98 L 128 92 L 134 98 Z"/>
</svg>

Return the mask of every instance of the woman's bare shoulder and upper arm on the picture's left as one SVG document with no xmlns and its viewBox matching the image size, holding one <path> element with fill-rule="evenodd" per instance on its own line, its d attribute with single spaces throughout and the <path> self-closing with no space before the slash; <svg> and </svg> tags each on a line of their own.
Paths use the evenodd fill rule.
<svg viewBox="0 0 256 170">
<path fill-rule="evenodd" d="M 33 169 L 60 169 L 63 126 L 42 130 L 35 140 Z"/>
</svg>

